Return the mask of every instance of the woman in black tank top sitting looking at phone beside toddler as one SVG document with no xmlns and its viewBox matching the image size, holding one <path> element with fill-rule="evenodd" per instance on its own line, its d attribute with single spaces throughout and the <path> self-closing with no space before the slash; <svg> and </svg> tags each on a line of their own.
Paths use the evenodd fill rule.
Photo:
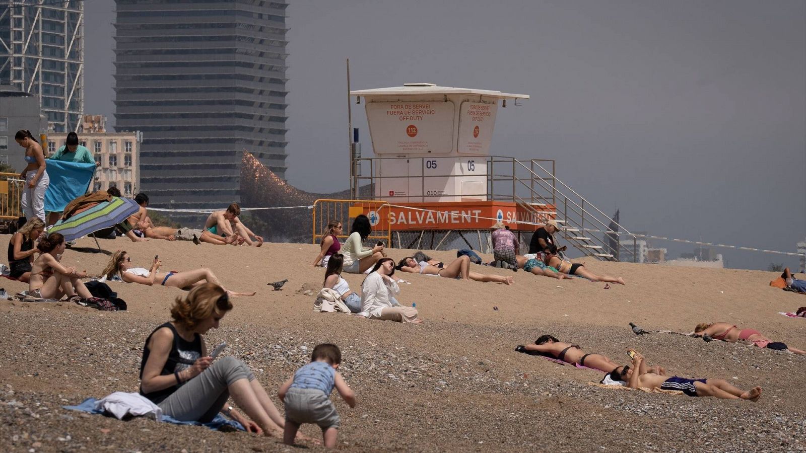
<svg viewBox="0 0 806 453">
<path fill-rule="evenodd" d="M 225 289 L 213 283 L 195 286 L 171 307 L 170 322 L 148 335 L 140 362 L 140 394 L 163 414 L 183 422 L 210 422 L 219 412 L 247 431 L 283 436 L 285 421 L 255 374 L 239 359 L 208 355 L 202 335 L 232 310 Z M 227 409 L 232 397 L 251 418 Z"/>
</svg>

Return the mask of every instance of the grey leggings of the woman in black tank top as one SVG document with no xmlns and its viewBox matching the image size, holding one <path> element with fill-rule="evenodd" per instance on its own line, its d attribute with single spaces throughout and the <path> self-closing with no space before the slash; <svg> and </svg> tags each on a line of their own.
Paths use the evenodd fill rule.
<svg viewBox="0 0 806 453">
<path fill-rule="evenodd" d="M 229 399 L 229 386 L 239 379 L 251 382 L 255 375 L 239 359 L 227 355 L 171 393 L 160 409 L 182 422 L 210 422 Z"/>
</svg>

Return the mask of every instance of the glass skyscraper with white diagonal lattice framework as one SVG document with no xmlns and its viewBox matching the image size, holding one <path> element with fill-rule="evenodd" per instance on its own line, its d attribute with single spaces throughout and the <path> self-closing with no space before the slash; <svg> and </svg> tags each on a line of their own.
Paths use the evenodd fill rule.
<svg viewBox="0 0 806 453">
<path fill-rule="evenodd" d="M 84 110 L 84 2 L 0 0 L 0 85 L 39 98 L 55 131 L 75 131 Z"/>
</svg>

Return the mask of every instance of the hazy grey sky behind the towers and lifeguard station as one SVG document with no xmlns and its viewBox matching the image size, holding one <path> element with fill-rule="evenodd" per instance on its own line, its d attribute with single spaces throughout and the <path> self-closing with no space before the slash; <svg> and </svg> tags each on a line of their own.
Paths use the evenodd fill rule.
<svg viewBox="0 0 806 453">
<path fill-rule="evenodd" d="M 780 251 L 806 238 L 803 0 L 290 3 L 286 176 L 300 189 L 347 188 L 350 58 L 352 89 L 530 94 L 499 110 L 491 152 L 555 159 L 630 230 Z M 113 6 L 85 2 L 85 110 L 110 121 Z M 797 263 L 722 253 L 731 267 Z"/>
</svg>

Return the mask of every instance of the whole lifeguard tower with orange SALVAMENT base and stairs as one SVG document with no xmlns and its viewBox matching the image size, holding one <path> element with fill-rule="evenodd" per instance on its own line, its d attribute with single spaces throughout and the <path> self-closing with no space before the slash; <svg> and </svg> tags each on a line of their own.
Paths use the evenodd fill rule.
<svg viewBox="0 0 806 453">
<path fill-rule="evenodd" d="M 350 94 L 364 99 L 376 155 L 353 156 L 354 185 L 369 182 L 372 198 L 388 202 L 384 215 L 371 206 L 364 214 L 373 227 L 392 231 L 393 245 L 438 249 L 460 239 L 488 251 L 497 220 L 530 237 L 554 218 L 563 225 L 560 236 L 584 255 L 617 259 L 619 251 L 604 250 L 604 235 L 586 231 L 607 230 L 609 218 L 556 179 L 554 160 L 490 155 L 499 108 L 529 95 L 430 83 Z M 526 247 L 529 237 L 521 236 Z"/>
</svg>

